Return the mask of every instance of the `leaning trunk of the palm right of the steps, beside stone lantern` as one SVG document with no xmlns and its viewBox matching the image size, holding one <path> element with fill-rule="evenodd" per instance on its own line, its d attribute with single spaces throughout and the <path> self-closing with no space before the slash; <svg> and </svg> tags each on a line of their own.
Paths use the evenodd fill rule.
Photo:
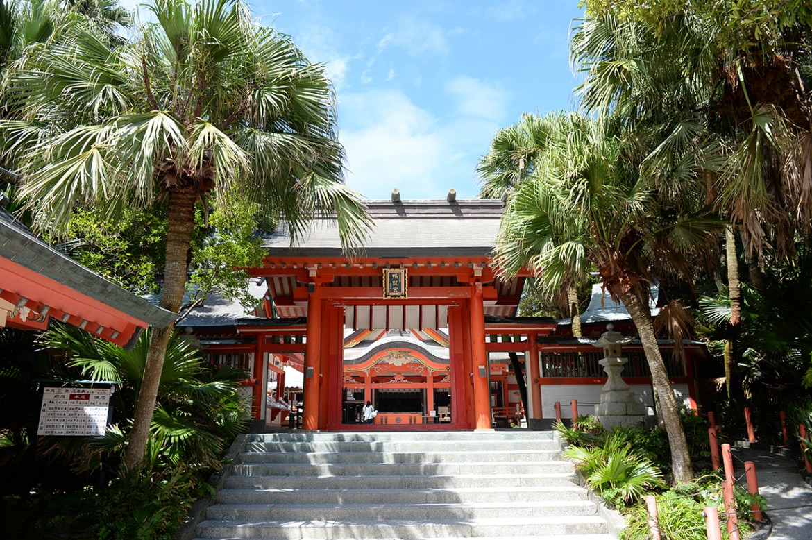
<svg viewBox="0 0 812 540">
<path fill-rule="evenodd" d="M 632 317 L 634 326 L 646 352 L 646 361 L 651 372 L 652 388 L 660 413 L 663 416 L 668 443 L 671 447 L 671 460 L 674 473 L 674 482 L 691 482 L 693 480 L 693 465 L 685 440 L 685 430 L 682 428 L 680 411 L 674 399 L 674 391 L 657 346 L 657 336 L 654 335 L 654 324 L 651 322 L 651 311 L 648 305 L 641 302 L 635 294 L 628 290 L 619 292 L 620 300 L 626 306 L 628 314 Z"/>
</svg>

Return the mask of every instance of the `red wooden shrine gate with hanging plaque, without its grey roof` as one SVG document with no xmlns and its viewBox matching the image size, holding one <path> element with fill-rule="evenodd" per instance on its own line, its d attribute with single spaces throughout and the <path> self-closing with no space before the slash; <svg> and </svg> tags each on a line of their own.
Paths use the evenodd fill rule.
<svg viewBox="0 0 812 540">
<path fill-rule="evenodd" d="M 393 423 L 387 421 L 389 429 L 397 424 L 423 424 L 425 417 L 432 416 L 434 390 L 440 388 L 449 391 L 451 421 L 431 422 L 425 424 L 425 429 L 490 429 L 489 350 L 525 352 L 538 358 L 535 337 L 548 335 L 555 323 L 528 328 L 516 325 L 486 328 L 486 306 L 491 311 L 515 309 L 519 295 L 515 283 L 519 279 L 503 283 L 495 277 L 488 261 L 488 257 L 411 257 L 407 261 L 364 257 L 352 262 L 333 257 L 316 260 L 268 257 L 265 267 L 252 273 L 266 277 L 278 313 L 292 316 L 306 313 L 307 326 L 270 331 L 247 327 L 240 332 L 265 334 L 264 339 L 257 339 L 258 358 L 266 352 L 304 352 L 306 430 L 345 428 L 346 389 L 364 391 L 361 401 L 365 402 L 371 399 L 371 391 L 383 384 L 403 390 L 419 387 L 425 391 L 427 402 L 422 411 L 396 417 Z M 398 270 L 395 275 L 405 285 L 402 292 L 395 291 L 394 295 L 384 289 L 384 274 L 393 274 L 390 270 Z M 374 362 L 344 364 L 345 328 L 369 331 L 447 328 L 447 365 L 423 361 L 420 373 L 412 371 L 411 378 L 400 374 L 400 380 L 376 381 Z M 268 339 L 274 334 L 302 332 L 304 343 L 273 343 L 273 339 Z M 520 343 L 486 343 L 487 334 L 508 333 L 531 339 Z M 391 356 L 392 349 L 387 351 L 381 357 Z M 418 356 L 419 353 L 412 352 L 409 357 L 414 360 Z M 421 363 L 419 358 L 417 363 Z M 532 366 L 538 368 L 538 362 L 530 364 L 531 377 L 538 379 L 538 373 L 532 373 Z M 540 404 L 540 393 L 538 396 L 535 403 Z M 378 421 L 378 425 L 382 423 Z"/>
</svg>

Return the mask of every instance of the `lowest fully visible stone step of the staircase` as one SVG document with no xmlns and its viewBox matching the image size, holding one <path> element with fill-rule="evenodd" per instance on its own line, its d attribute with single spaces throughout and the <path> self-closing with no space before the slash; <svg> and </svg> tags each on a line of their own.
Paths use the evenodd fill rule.
<svg viewBox="0 0 812 540">
<path fill-rule="evenodd" d="M 607 534 L 606 521 L 597 516 L 525 517 L 510 519 L 463 519 L 432 521 L 218 521 L 197 526 L 199 538 L 482 538 L 499 537 L 507 531 L 532 537 L 543 532 L 548 538 L 569 534 Z M 514 536 L 515 535 L 515 536 Z"/>
</svg>

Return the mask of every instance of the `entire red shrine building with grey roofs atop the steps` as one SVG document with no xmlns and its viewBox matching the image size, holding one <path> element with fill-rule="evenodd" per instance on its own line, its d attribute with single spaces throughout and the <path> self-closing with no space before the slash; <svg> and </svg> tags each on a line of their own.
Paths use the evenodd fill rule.
<svg viewBox="0 0 812 540">
<path fill-rule="evenodd" d="M 263 265 L 249 270 L 257 310 L 212 296 L 179 322 L 211 361 L 250 371 L 253 428 L 287 426 L 294 401 L 304 430 L 490 430 L 522 417 L 539 429 L 556 401 L 572 399 L 590 413 L 607 380 L 600 350 L 573 338 L 568 321 L 516 317 L 530 274 L 495 272 L 503 201 L 457 200 L 453 190 L 401 200 L 395 190 L 367 207 L 373 225 L 352 257 L 330 218 L 294 244 L 279 230 L 263 238 Z M 610 320 L 634 335 L 628 313 L 611 315 L 614 304 L 598 293 L 584 335 L 597 337 Z M 686 343 L 681 359 L 667 340 L 661 348 L 678 400 L 695 408 L 702 344 Z M 651 407 L 639 342 L 624 356 L 624 379 Z M 286 384 L 293 372 L 303 388 Z M 364 423 L 368 401 L 378 414 Z"/>
</svg>

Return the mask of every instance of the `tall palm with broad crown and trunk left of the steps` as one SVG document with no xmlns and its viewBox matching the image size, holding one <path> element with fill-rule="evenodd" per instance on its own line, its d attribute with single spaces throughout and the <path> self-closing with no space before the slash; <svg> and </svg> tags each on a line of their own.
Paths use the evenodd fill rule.
<svg viewBox="0 0 812 540">
<path fill-rule="evenodd" d="M 155 19 L 110 48 L 80 25 L 37 48 L 10 91 L 26 121 L 0 123 L 15 141 L 21 196 L 40 227 L 63 227 L 95 203 L 166 205 L 161 306 L 177 313 L 195 205 L 239 192 L 291 235 L 317 214 L 338 218 L 344 246 L 369 216 L 340 183 L 330 81 L 290 37 L 257 24 L 239 0 L 154 0 Z M 142 459 L 172 329 L 151 334 L 126 463 Z"/>
</svg>

